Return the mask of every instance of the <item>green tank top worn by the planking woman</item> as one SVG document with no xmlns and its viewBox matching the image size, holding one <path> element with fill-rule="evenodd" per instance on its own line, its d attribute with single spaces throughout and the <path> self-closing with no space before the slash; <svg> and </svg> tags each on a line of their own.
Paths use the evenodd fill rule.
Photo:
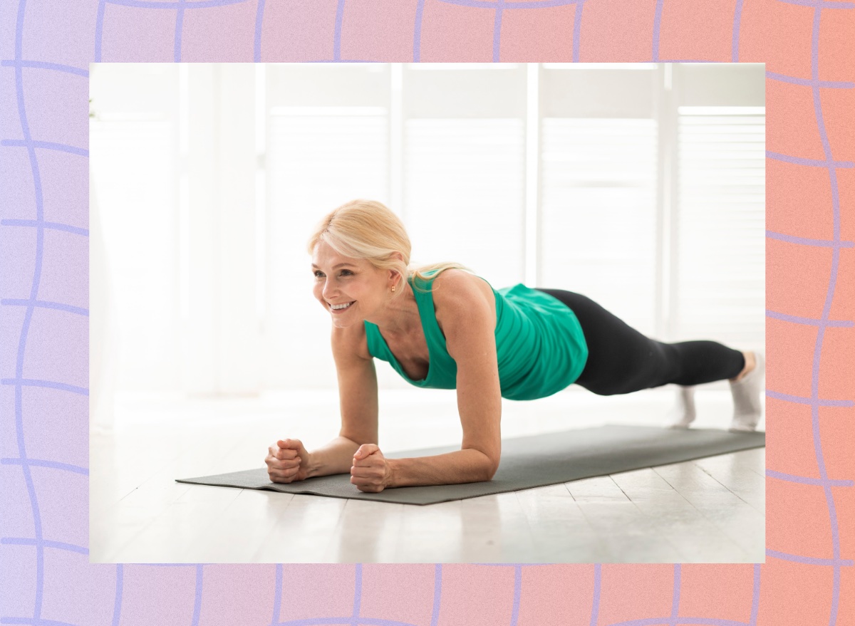
<svg viewBox="0 0 855 626">
<path fill-rule="evenodd" d="M 410 277 L 410 286 L 412 284 Z M 428 290 L 413 289 L 428 341 L 428 375 L 421 381 L 406 375 L 380 329 L 366 321 L 369 352 L 390 363 L 405 381 L 416 387 L 454 389 L 457 387 L 457 363 L 445 348 L 445 335 L 436 323 L 431 291 L 433 278 L 419 281 L 419 285 Z M 496 298 L 496 352 L 503 398 L 545 398 L 579 378 L 587 361 L 587 344 L 579 320 L 566 304 L 522 283 L 498 291 L 492 289 L 492 292 Z"/>
</svg>

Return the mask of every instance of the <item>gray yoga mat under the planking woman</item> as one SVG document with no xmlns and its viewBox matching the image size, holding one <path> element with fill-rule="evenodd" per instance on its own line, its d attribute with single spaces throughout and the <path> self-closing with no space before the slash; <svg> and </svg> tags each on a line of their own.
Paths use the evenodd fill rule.
<svg viewBox="0 0 855 626">
<path fill-rule="evenodd" d="M 333 498 L 433 505 L 447 500 L 543 487 L 591 476 L 680 463 L 693 458 L 764 447 L 765 433 L 731 433 L 702 428 L 671 429 L 606 425 L 502 441 L 502 461 L 492 481 L 433 487 L 397 487 L 363 493 L 350 474 L 309 478 L 289 485 L 270 482 L 267 468 L 176 479 L 197 485 L 312 493 Z M 425 457 L 458 450 L 456 446 L 385 454 L 386 458 Z"/>
</svg>

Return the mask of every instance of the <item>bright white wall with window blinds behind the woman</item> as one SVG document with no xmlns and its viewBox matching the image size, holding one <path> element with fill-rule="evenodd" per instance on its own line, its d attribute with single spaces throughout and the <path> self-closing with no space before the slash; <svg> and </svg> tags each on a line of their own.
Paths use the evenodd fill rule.
<svg viewBox="0 0 855 626">
<path fill-rule="evenodd" d="M 305 240 L 359 197 L 417 262 L 763 347 L 763 65 L 99 64 L 91 97 L 118 389 L 334 388 Z"/>
</svg>

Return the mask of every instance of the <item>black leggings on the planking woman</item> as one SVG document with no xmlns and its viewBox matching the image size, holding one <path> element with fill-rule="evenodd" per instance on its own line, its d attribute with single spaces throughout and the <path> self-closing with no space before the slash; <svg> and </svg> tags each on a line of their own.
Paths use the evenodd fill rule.
<svg viewBox="0 0 855 626">
<path fill-rule="evenodd" d="M 745 367 L 742 352 L 715 341 L 664 344 L 640 334 L 591 298 L 562 289 L 540 289 L 579 318 L 588 358 L 576 384 L 601 396 L 640 389 L 735 378 Z"/>
</svg>

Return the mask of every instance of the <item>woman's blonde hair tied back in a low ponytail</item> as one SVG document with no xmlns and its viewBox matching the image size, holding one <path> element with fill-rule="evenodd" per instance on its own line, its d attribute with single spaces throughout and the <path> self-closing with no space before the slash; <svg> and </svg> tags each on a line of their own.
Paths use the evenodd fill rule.
<svg viewBox="0 0 855 626">
<path fill-rule="evenodd" d="M 410 267 L 410 237 L 404 222 L 385 204 L 375 200 L 351 200 L 327 213 L 317 223 L 309 239 L 307 247 L 310 254 L 321 241 L 342 256 L 364 258 L 377 269 L 394 269 L 404 281 L 413 276 L 418 281 L 427 282 L 432 278 L 428 272 L 434 272 L 435 278 L 446 269 L 472 272 L 465 265 L 451 262 Z M 420 292 L 428 291 L 418 281 L 413 281 L 413 287 Z M 402 289 L 395 296 L 403 292 Z"/>
</svg>

